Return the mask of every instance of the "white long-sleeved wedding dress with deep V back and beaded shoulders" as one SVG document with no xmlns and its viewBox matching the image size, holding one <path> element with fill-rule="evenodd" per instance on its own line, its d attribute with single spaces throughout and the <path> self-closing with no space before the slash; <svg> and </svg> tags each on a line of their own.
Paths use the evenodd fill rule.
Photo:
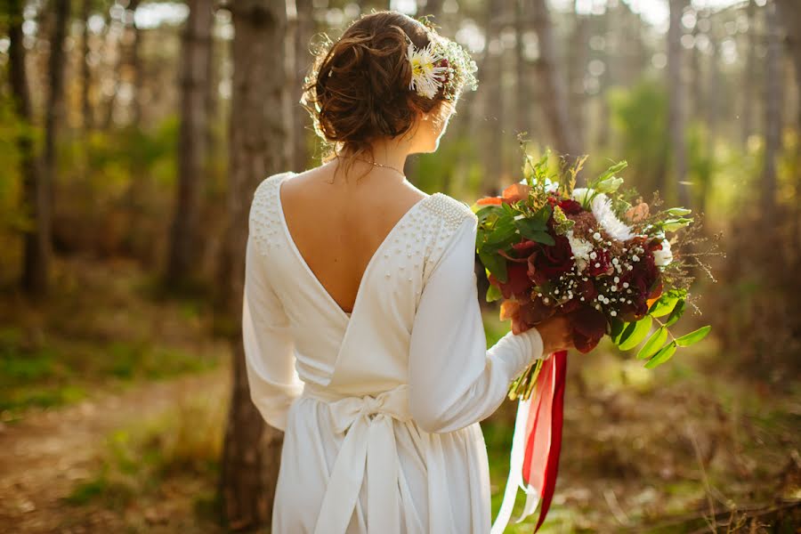
<svg viewBox="0 0 801 534">
<path fill-rule="evenodd" d="M 371 257 L 349 315 L 287 230 L 275 174 L 255 192 L 243 336 L 256 407 L 285 432 L 273 534 L 490 532 L 478 422 L 543 357 L 536 328 L 487 350 L 477 219 L 418 201 Z"/>
</svg>

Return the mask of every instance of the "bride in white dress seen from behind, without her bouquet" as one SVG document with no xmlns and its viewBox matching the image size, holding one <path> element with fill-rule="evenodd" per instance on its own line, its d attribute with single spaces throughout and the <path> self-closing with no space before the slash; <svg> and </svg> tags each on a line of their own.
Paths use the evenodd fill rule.
<svg viewBox="0 0 801 534">
<path fill-rule="evenodd" d="M 250 209 L 247 375 L 285 432 L 273 534 L 486 534 L 479 421 L 563 320 L 487 350 L 477 219 L 403 174 L 433 152 L 474 63 L 396 12 L 356 20 L 315 62 L 304 103 L 327 163 L 265 179 Z"/>
</svg>

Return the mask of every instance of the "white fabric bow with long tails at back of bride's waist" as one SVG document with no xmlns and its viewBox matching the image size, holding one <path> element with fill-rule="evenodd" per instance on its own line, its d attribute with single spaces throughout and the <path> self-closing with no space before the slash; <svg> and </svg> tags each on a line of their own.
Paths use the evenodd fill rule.
<svg viewBox="0 0 801 534">
<path fill-rule="evenodd" d="M 367 528 L 370 534 L 401 533 L 401 468 L 392 419 L 411 420 L 409 386 L 376 396 L 333 397 L 308 387 L 303 395 L 328 404 L 334 429 L 344 433 L 320 506 L 315 534 L 344 534 L 367 472 Z M 367 469 L 365 469 L 367 465 Z"/>
</svg>

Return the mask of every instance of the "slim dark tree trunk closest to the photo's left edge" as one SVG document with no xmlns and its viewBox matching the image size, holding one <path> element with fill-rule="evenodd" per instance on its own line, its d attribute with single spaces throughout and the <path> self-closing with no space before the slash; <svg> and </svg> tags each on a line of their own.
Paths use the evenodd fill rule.
<svg viewBox="0 0 801 534">
<path fill-rule="evenodd" d="M 47 292 L 50 264 L 50 211 L 48 193 L 33 142 L 33 106 L 30 101 L 28 72 L 25 69 L 25 46 L 22 44 L 22 0 L 8 2 L 9 77 L 14 111 L 20 120 L 17 148 L 20 150 L 22 201 L 28 208 L 32 227 L 25 231 L 22 254 L 22 289 L 28 295 Z"/>
</svg>

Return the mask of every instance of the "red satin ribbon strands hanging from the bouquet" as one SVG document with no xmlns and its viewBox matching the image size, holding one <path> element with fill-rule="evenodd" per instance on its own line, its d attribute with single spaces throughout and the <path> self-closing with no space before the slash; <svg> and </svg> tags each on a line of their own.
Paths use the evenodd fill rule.
<svg viewBox="0 0 801 534">
<path fill-rule="evenodd" d="M 537 377 L 534 398 L 526 422 L 526 451 L 523 481 L 539 491 L 542 506 L 534 532 L 545 521 L 556 487 L 559 452 L 562 449 L 562 416 L 567 351 L 551 354 Z"/>
</svg>

